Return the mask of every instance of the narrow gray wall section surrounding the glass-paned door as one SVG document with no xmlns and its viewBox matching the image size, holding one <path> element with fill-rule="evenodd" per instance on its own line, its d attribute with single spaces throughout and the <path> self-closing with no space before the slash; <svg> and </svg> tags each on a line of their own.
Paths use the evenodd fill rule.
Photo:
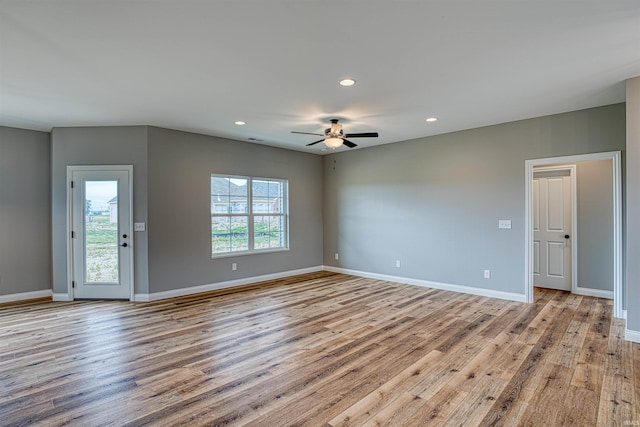
<svg viewBox="0 0 640 427">
<path fill-rule="evenodd" d="M 54 128 L 51 131 L 53 292 L 67 292 L 67 166 L 133 165 L 133 221 L 147 221 L 147 127 Z M 135 234 L 135 292 L 147 293 L 146 233 Z"/>
</svg>

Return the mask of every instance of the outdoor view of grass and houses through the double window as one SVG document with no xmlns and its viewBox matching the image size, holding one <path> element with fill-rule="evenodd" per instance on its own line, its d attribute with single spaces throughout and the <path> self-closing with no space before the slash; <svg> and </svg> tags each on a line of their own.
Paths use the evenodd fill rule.
<svg viewBox="0 0 640 427">
<path fill-rule="evenodd" d="M 288 181 L 211 175 L 212 256 L 287 249 Z"/>
</svg>

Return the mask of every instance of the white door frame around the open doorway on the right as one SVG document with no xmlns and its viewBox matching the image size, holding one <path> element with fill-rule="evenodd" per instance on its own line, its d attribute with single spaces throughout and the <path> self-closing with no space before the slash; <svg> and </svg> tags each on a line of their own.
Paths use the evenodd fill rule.
<svg viewBox="0 0 640 427">
<path fill-rule="evenodd" d="M 525 160 L 525 297 L 533 303 L 533 168 L 592 160 L 611 160 L 613 166 L 613 315 L 623 318 L 622 310 L 622 169 L 621 152 L 578 154 Z M 573 266 L 572 266 L 573 268 Z M 576 263 L 577 268 L 577 263 Z M 572 279 L 573 280 L 573 279 Z"/>
</svg>

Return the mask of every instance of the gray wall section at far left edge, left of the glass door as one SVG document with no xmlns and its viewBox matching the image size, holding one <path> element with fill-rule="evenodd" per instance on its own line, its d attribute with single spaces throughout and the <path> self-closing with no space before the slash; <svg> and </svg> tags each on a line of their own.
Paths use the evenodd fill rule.
<svg viewBox="0 0 640 427">
<path fill-rule="evenodd" d="M 0 127 L 0 295 L 51 289 L 49 134 Z"/>
</svg>

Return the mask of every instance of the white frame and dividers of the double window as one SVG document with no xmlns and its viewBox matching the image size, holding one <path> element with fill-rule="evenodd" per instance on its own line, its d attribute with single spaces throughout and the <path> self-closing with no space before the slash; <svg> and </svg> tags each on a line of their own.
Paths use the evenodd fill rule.
<svg viewBox="0 0 640 427">
<path fill-rule="evenodd" d="M 242 176 L 242 175 L 228 175 L 228 174 L 216 174 L 212 173 L 210 178 L 225 178 L 228 180 L 232 179 L 243 179 L 247 181 L 247 212 L 225 212 L 225 213 L 215 213 L 213 212 L 213 200 L 211 197 L 213 196 L 211 188 L 211 183 L 209 184 L 209 211 L 210 211 L 210 229 L 209 236 L 210 239 L 213 236 L 213 218 L 214 217 L 246 217 L 247 218 L 247 233 L 248 233 L 248 247 L 247 250 L 239 250 L 239 251 L 227 251 L 227 252 L 213 252 L 213 241 L 210 241 L 210 251 L 211 251 L 211 259 L 215 258 L 225 258 L 232 256 L 242 256 L 242 255 L 252 255 L 252 254 L 261 254 L 268 252 L 282 252 L 289 250 L 289 180 L 282 178 L 263 178 L 263 177 L 253 177 L 253 176 Z M 267 213 L 267 212 L 253 212 L 253 181 L 271 181 L 271 182 L 279 182 L 283 184 L 283 206 L 282 213 Z M 255 249 L 255 232 L 254 232 L 254 222 L 255 217 L 260 216 L 280 216 L 284 220 L 283 223 L 283 240 L 284 246 L 276 247 L 276 248 L 263 248 L 263 249 Z"/>
</svg>

